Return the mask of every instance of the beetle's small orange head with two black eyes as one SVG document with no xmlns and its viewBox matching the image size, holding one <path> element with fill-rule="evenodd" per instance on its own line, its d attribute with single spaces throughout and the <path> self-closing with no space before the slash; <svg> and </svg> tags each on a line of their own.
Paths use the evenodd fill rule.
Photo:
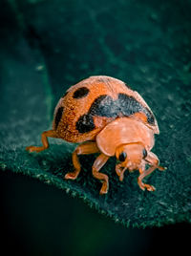
<svg viewBox="0 0 191 256">
<path fill-rule="evenodd" d="M 146 156 L 147 151 L 139 142 L 119 145 L 116 150 L 116 157 L 121 162 L 121 167 L 129 169 L 129 171 L 137 170 Z"/>
</svg>

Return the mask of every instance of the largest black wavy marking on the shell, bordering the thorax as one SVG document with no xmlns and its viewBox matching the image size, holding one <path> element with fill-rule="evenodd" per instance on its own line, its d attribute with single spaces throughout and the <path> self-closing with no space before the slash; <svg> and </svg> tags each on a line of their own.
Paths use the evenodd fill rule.
<svg viewBox="0 0 191 256">
<path fill-rule="evenodd" d="M 76 122 L 76 129 L 79 133 L 86 133 L 94 130 L 94 116 L 98 117 L 129 117 L 135 113 L 142 112 L 146 115 L 150 124 L 154 124 L 155 117 L 148 108 L 143 107 L 133 96 L 118 94 L 114 100 L 111 96 L 98 96 L 93 102 L 89 112 L 79 117 Z"/>
</svg>

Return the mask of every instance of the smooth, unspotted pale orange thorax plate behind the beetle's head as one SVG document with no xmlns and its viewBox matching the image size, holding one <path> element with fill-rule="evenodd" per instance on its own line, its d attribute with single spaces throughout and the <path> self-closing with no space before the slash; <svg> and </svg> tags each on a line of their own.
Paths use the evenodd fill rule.
<svg viewBox="0 0 191 256">
<path fill-rule="evenodd" d="M 115 156 L 122 144 L 141 143 L 146 150 L 154 146 L 154 132 L 143 122 L 131 117 L 120 117 L 104 127 L 96 136 L 99 150 L 107 156 Z"/>
</svg>

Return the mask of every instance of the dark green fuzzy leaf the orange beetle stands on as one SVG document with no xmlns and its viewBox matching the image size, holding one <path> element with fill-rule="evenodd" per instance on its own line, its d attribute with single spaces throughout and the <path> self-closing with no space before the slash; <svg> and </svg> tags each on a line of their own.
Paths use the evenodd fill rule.
<svg viewBox="0 0 191 256">
<path fill-rule="evenodd" d="M 1 169 L 53 184 L 126 226 L 190 222 L 190 5 L 9 2 L 0 42 Z M 174 15 L 167 19 L 172 8 Z M 79 177 L 65 181 L 73 170 L 75 145 L 60 139 L 50 139 L 47 151 L 26 152 L 26 146 L 40 145 L 41 133 L 51 128 L 58 98 L 89 75 L 133 84 L 154 110 L 160 128 L 154 151 L 168 168 L 147 179 L 155 192 L 139 189 L 137 172 L 126 172 L 118 181 L 111 159 L 103 167 L 109 193 L 99 196 L 101 183 L 91 171 L 96 155 L 81 156 Z"/>
</svg>

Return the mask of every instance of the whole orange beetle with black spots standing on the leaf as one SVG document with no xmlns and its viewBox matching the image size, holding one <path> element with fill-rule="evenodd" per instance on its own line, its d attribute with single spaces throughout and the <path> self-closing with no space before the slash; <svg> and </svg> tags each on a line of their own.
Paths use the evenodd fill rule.
<svg viewBox="0 0 191 256">
<path fill-rule="evenodd" d="M 93 176 L 102 182 L 100 194 L 109 188 L 108 176 L 99 172 L 106 161 L 116 156 L 117 176 L 123 181 L 128 169 L 139 171 L 138 185 L 144 190 L 155 187 L 143 179 L 159 166 L 158 157 L 151 152 L 154 134 L 159 127 L 149 106 L 136 91 L 124 82 L 105 75 L 91 76 L 72 86 L 60 98 L 54 110 L 53 130 L 42 133 L 43 146 L 29 146 L 29 152 L 40 152 L 49 147 L 48 137 L 83 142 L 73 153 L 74 172 L 65 179 L 75 180 L 81 170 L 78 155 L 99 152 L 93 164 Z M 150 167 L 145 169 L 145 165 Z"/>
</svg>

